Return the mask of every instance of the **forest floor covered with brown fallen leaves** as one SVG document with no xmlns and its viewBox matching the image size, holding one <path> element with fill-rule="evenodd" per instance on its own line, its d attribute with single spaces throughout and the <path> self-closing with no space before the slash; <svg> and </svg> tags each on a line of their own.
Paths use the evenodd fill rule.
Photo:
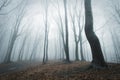
<svg viewBox="0 0 120 80">
<path fill-rule="evenodd" d="M 0 80 L 120 80 L 120 64 L 109 63 L 108 69 L 85 70 L 89 62 L 47 63 L 26 70 L 0 74 Z"/>
</svg>

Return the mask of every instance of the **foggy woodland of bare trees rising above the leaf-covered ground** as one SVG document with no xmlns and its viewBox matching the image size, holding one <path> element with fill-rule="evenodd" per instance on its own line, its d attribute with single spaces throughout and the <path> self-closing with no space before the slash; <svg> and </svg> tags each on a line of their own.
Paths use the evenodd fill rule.
<svg viewBox="0 0 120 80">
<path fill-rule="evenodd" d="M 119 0 L 0 0 L 0 63 L 120 63 Z"/>
</svg>

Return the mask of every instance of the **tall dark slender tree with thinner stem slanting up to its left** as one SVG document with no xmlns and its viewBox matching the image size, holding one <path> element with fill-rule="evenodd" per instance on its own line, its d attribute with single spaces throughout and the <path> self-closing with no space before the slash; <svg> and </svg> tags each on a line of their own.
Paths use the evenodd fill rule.
<svg viewBox="0 0 120 80">
<path fill-rule="evenodd" d="M 66 0 L 63 0 L 63 3 L 64 3 L 64 12 L 65 12 L 65 17 L 64 17 L 65 25 L 63 23 L 62 16 L 61 16 L 61 13 L 60 13 L 59 3 L 58 3 L 59 21 L 57 22 L 57 20 L 56 20 L 56 23 L 58 24 L 59 32 L 60 32 L 60 35 L 61 35 L 61 38 L 62 38 L 62 43 L 63 43 L 62 52 L 63 53 L 65 52 L 66 61 L 70 62 L 70 59 L 69 59 L 69 32 L 68 32 L 67 4 L 66 4 L 67 2 L 66 2 Z M 64 54 L 63 54 L 63 58 L 64 58 Z"/>
</svg>

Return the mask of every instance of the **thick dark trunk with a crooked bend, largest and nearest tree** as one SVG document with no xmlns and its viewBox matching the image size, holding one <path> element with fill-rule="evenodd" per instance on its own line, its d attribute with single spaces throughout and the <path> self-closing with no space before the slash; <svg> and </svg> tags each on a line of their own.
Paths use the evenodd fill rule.
<svg viewBox="0 0 120 80">
<path fill-rule="evenodd" d="M 99 39 L 93 31 L 91 0 L 85 0 L 85 34 L 92 51 L 92 67 L 106 67 Z"/>
</svg>

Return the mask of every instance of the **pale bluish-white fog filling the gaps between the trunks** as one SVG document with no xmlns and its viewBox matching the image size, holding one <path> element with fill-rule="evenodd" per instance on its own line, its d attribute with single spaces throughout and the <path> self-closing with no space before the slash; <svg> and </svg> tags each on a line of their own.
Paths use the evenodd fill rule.
<svg viewBox="0 0 120 80">
<path fill-rule="evenodd" d="M 119 11 L 116 13 L 115 9 L 120 10 L 118 3 L 120 3 L 119 0 L 92 0 L 94 31 L 99 37 L 105 60 L 115 63 L 120 62 L 120 13 Z M 70 60 L 75 60 L 75 41 L 71 20 L 74 13 L 81 14 L 80 26 L 84 26 L 84 0 L 77 0 L 77 3 L 76 0 L 67 0 Z M 48 29 L 48 60 L 65 59 L 59 15 L 61 15 L 64 25 L 63 0 L 0 0 L 0 63 L 5 62 L 6 56 L 10 56 L 10 61 L 14 62 L 42 61 L 46 24 Z M 75 26 L 78 36 L 76 17 Z M 65 32 L 65 29 L 63 30 Z M 82 48 L 85 60 L 91 61 L 91 49 L 84 29 L 82 30 Z M 78 51 L 81 60 L 80 45 Z"/>
</svg>

